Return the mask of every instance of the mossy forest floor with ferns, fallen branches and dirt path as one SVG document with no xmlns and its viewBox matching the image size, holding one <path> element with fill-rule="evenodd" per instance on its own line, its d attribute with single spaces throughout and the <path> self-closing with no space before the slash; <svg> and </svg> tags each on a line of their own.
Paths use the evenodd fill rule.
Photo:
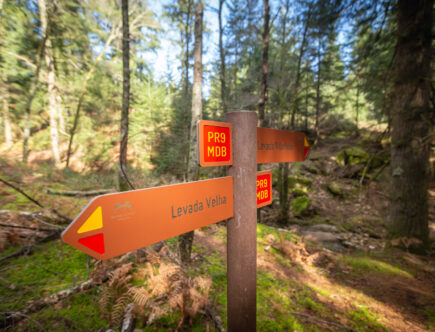
<svg viewBox="0 0 435 332">
<path fill-rule="evenodd" d="M 435 331 L 434 248 L 423 256 L 387 246 L 389 171 L 379 134 L 336 133 L 308 161 L 292 164 L 288 223 L 277 222 L 276 199 L 262 208 L 259 331 Z M 136 331 L 226 326 L 225 222 L 195 231 L 192 262 L 183 268 L 176 239 L 97 262 L 61 242 L 67 223 L 52 212 L 73 218 L 89 198 L 46 190 L 110 190 L 115 174 L 53 170 L 47 159 L 25 167 L 13 151 L 1 155 L 0 178 L 44 208 L 0 184 L 0 329 L 119 330 L 129 317 Z M 276 179 L 276 165 L 267 167 Z M 429 197 L 435 240 L 434 184 Z"/>
</svg>

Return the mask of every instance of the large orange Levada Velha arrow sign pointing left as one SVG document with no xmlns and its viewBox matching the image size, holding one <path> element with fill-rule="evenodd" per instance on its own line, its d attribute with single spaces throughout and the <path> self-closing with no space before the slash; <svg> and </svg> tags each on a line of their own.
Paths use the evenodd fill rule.
<svg viewBox="0 0 435 332">
<path fill-rule="evenodd" d="M 62 240 L 109 259 L 233 216 L 233 178 L 189 182 L 96 197 Z"/>
</svg>

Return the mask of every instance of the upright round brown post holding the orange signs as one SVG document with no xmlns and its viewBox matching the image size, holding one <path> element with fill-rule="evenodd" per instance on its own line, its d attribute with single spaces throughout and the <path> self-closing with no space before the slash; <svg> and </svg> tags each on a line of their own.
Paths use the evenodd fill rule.
<svg viewBox="0 0 435 332">
<path fill-rule="evenodd" d="M 234 218 L 227 224 L 228 331 L 255 331 L 257 311 L 257 114 L 226 114 L 233 126 Z"/>
</svg>

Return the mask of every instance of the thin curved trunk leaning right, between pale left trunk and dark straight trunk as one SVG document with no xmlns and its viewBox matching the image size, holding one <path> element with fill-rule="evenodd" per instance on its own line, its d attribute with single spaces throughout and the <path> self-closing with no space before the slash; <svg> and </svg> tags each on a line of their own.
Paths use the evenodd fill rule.
<svg viewBox="0 0 435 332">
<path fill-rule="evenodd" d="M 75 135 L 76 130 L 77 130 L 77 126 L 79 124 L 80 110 L 81 110 L 81 107 L 82 107 L 82 104 L 83 104 L 83 101 L 84 101 L 84 98 L 85 98 L 85 95 L 86 95 L 86 92 L 88 89 L 89 81 L 93 77 L 94 72 L 95 72 L 95 68 L 97 67 L 97 65 L 101 61 L 101 59 L 103 58 L 103 55 L 106 52 L 107 47 L 110 45 L 110 43 L 113 41 L 113 39 L 115 39 L 115 37 L 117 36 L 118 31 L 119 31 L 119 26 L 112 28 L 112 30 L 110 31 L 109 37 L 107 38 L 106 43 L 104 44 L 103 49 L 101 50 L 100 54 L 98 54 L 97 58 L 95 59 L 94 63 L 92 64 L 91 69 L 88 71 L 88 73 L 86 74 L 85 79 L 83 81 L 82 90 L 80 92 L 79 101 L 77 103 L 76 112 L 74 115 L 73 126 L 71 127 L 71 131 L 70 131 L 70 139 L 69 139 L 69 143 L 68 143 L 68 151 L 66 154 L 65 168 L 69 167 L 72 143 L 73 143 L 74 135 Z"/>
</svg>

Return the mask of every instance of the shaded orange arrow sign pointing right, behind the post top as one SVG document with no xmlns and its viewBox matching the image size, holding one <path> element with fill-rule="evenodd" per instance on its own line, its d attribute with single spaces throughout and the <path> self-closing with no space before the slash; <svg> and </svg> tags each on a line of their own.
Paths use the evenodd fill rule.
<svg viewBox="0 0 435 332">
<path fill-rule="evenodd" d="M 304 161 L 310 150 L 304 133 L 257 128 L 257 163 Z"/>
</svg>

